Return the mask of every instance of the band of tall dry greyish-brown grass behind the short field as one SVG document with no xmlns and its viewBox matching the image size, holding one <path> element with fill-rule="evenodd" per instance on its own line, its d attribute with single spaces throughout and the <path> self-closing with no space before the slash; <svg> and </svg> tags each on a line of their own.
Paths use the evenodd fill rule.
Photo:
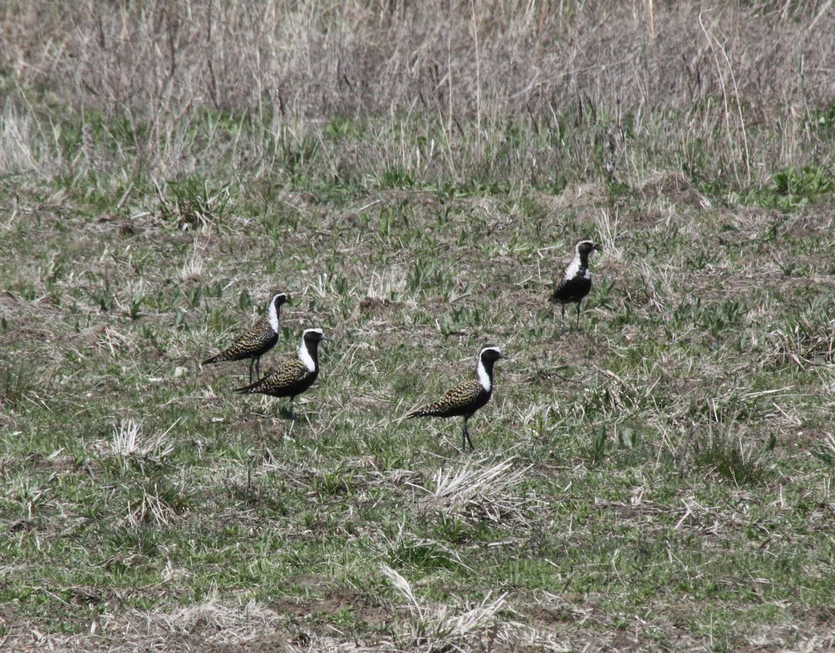
<svg viewBox="0 0 835 653">
<path fill-rule="evenodd" d="M 626 180 L 683 166 L 762 185 L 784 165 L 830 156 L 805 129 L 835 94 L 827 2 L 8 0 L 0 11 L 0 170 L 36 160 L 47 175 L 108 170 L 124 155 L 107 134 L 49 157 L 48 134 L 18 141 L 16 129 L 48 132 L 50 111 L 56 122 L 90 112 L 124 121 L 135 165 L 166 177 L 230 160 L 257 175 L 334 118 L 377 119 L 381 135 L 438 129 L 434 147 L 366 137 L 325 149 L 337 179 L 400 164 L 418 180 L 475 172 L 559 185 L 605 165 L 593 154 L 610 140 L 620 158 L 624 129 L 614 174 Z M 232 139 L 219 159 L 211 131 L 189 128 L 210 111 L 260 133 Z"/>
</svg>

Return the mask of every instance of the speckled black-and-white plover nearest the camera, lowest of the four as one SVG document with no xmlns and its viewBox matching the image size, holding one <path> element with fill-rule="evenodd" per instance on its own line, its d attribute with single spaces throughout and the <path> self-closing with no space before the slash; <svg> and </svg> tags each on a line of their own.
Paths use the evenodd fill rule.
<svg viewBox="0 0 835 653">
<path fill-rule="evenodd" d="M 478 352 L 478 366 L 473 377 L 465 379 L 444 393 L 437 402 L 417 408 L 409 413 L 410 418 L 454 418 L 463 415 L 464 424 L 461 429 L 461 447 L 466 448 L 469 444 L 470 451 L 473 451 L 473 440 L 469 437 L 467 430 L 468 419 L 490 400 L 493 394 L 493 363 L 504 354 L 498 347 L 488 345 L 482 347 Z"/>
</svg>

